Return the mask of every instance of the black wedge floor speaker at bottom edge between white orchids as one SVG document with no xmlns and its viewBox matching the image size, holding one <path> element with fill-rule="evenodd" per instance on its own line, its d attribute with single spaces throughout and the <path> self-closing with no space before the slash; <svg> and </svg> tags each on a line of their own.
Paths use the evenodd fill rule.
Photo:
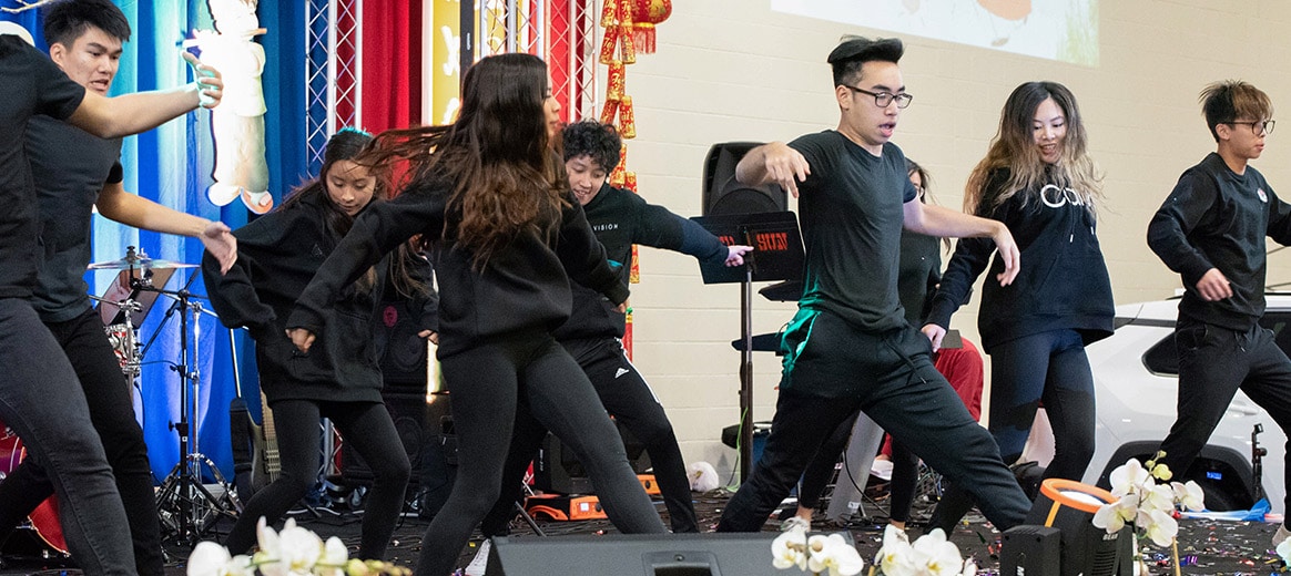
<svg viewBox="0 0 1291 576">
<path fill-rule="evenodd" d="M 494 537 L 487 576 L 780 576 L 772 532 Z"/>
</svg>

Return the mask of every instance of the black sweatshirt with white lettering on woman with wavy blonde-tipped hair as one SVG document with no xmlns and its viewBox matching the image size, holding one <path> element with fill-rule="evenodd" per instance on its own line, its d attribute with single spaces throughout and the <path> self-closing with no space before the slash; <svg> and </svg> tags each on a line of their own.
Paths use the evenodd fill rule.
<svg viewBox="0 0 1291 576">
<path fill-rule="evenodd" d="M 981 206 L 1004 192 L 1008 175 L 1007 169 L 988 175 Z M 1068 186 L 1047 182 L 1041 189 L 1020 191 L 988 216 L 1012 232 L 1022 255 L 1021 271 L 1012 283 L 1001 286 L 995 274 L 1004 271 L 1004 263 L 998 256 L 990 263 L 994 242 L 961 238 L 941 276 L 928 323 L 949 329 L 950 314 L 990 263 L 977 314 L 988 353 L 995 344 L 1051 330 L 1075 330 L 1084 344 L 1112 335 L 1115 307 L 1093 214 Z"/>
</svg>

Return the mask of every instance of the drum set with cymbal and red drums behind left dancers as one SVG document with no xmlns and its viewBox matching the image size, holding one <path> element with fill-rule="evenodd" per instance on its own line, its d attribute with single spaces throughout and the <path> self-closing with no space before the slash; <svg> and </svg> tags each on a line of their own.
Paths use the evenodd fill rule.
<svg viewBox="0 0 1291 576">
<path fill-rule="evenodd" d="M 129 246 L 125 258 L 98 262 L 89 265 L 90 271 L 119 271 L 102 296 L 90 295 L 98 303 L 99 317 L 103 320 L 108 343 L 111 343 L 121 372 L 130 387 L 138 387 L 143 358 L 147 357 L 163 327 L 173 317 L 179 318 L 179 360 L 167 361 L 179 375 L 179 418 L 169 428 L 179 436 L 179 460 L 158 488 L 158 515 L 163 535 L 167 539 L 188 544 L 190 548 L 222 518 L 236 518 L 241 503 L 223 478 L 216 464 L 196 450 L 195 436 L 198 416 L 198 384 L 200 374 L 196 369 L 196 347 L 190 345 L 200 338 L 198 314 L 216 314 L 203 308 L 198 296 L 188 293 L 188 285 L 198 274 L 190 274 L 179 290 L 167 290 L 170 277 L 183 268 L 196 268 L 170 260 L 148 258 L 143 251 Z M 152 336 L 145 343 L 139 339 L 139 326 L 159 296 L 170 302 L 165 317 L 156 326 Z M 192 339 L 190 340 L 190 331 Z M 231 334 L 231 332 L 230 332 Z M 236 369 L 235 369 L 236 370 Z M 0 423 L 0 479 L 13 472 L 25 456 L 21 439 Z M 214 485 L 203 483 L 204 473 L 214 479 Z M 54 553 L 67 554 L 67 542 L 58 526 L 57 499 L 50 497 L 28 518 L 31 528 Z M 50 550 L 46 550 L 46 557 Z"/>
</svg>

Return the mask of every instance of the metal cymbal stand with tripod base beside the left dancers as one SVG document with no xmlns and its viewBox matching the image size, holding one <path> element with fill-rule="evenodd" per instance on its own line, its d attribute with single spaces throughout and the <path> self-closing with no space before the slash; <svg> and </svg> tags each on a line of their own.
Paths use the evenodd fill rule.
<svg viewBox="0 0 1291 576">
<path fill-rule="evenodd" d="M 188 282 L 196 277 L 194 274 Z M 196 370 L 198 354 L 195 347 L 188 345 L 190 316 L 192 321 L 194 340 L 200 338 L 200 326 L 196 314 L 203 312 L 201 304 L 191 300 L 187 287 L 179 291 L 158 290 L 174 300 L 167 311 L 167 320 L 179 312 L 179 363 L 172 370 L 179 374 L 179 421 L 172 423 L 170 428 L 179 434 L 179 461 L 176 463 L 161 490 L 158 492 L 158 514 L 164 530 L 169 531 L 169 537 L 188 544 L 190 548 L 198 545 L 198 540 L 207 533 L 221 517 L 236 518 L 241 510 L 238 495 L 225 481 L 223 474 L 216 468 L 204 454 L 198 451 L 196 420 L 198 420 L 198 384 L 200 374 Z M 163 321 L 164 322 L 164 321 Z M 160 330 L 160 327 L 158 329 Z M 191 363 L 190 363 L 191 362 Z M 190 437 L 191 434 L 191 437 Z M 201 483 L 203 466 L 209 469 L 216 485 L 221 491 L 213 494 Z"/>
</svg>

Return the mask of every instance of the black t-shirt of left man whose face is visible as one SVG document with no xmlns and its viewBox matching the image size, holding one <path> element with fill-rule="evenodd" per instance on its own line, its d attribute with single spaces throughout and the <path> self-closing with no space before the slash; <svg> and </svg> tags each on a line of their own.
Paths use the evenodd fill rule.
<svg viewBox="0 0 1291 576">
<path fill-rule="evenodd" d="M 32 303 L 40 320 L 63 322 L 90 305 L 85 283 L 92 258 L 90 214 L 103 184 L 121 182 L 121 139 L 98 138 L 67 122 L 36 116 L 27 124 L 26 140 L 44 244 Z"/>
</svg>

